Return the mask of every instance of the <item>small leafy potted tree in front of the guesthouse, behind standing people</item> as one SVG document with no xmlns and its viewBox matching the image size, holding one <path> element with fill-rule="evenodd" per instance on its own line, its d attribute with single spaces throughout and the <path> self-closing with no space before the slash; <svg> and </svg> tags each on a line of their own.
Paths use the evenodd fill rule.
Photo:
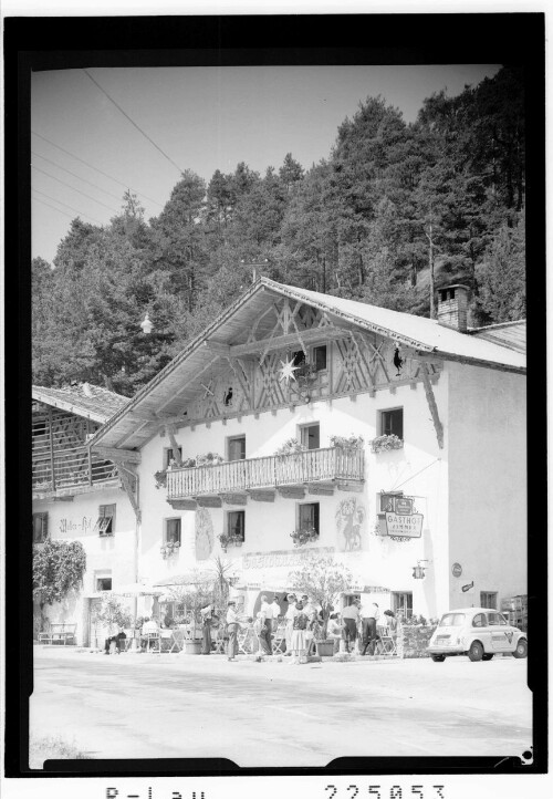
<svg viewBox="0 0 553 799">
<path fill-rule="evenodd" d="M 332 610 L 336 605 L 341 593 L 352 585 L 351 571 L 337 564 L 333 558 L 310 559 L 301 570 L 289 574 L 289 582 L 293 589 L 306 593 L 310 599 L 321 605 L 323 614 L 322 639 L 326 639 L 326 629 Z"/>
</svg>

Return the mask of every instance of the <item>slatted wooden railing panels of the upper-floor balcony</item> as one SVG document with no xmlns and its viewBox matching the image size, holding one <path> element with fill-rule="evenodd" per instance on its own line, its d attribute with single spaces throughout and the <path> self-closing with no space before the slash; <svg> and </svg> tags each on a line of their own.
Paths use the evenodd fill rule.
<svg viewBox="0 0 553 799">
<path fill-rule="evenodd" d="M 194 469 L 174 468 L 167 471 L 167 499 L 333 480 L 359 481 L 364 479 L 364 470 L 363 450 L 337 447 L 230 460 Z"/>
</svg>

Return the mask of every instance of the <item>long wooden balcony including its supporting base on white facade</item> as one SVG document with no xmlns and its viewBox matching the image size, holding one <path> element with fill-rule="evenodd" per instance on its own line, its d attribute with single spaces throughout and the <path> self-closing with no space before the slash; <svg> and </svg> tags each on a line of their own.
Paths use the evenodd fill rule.
<svg viewBox="0 0 553 799">
<path fill-rule="evenodd" d="M 220 506 L 221 500 L 243 505 L 248 496 L 273 501 L 276 490 L 281 496 L 294 498 L 303 497 L 305 489 L 310 494 L 333 494 L 335 488 L 358 491 L 364 479 L 363 450 L 310 449 L 285 456 L 231 460 L 219 466 L 170 469 L 167 501 L 181 508 L 191 508 L 194 502 Z"/>
</svg>

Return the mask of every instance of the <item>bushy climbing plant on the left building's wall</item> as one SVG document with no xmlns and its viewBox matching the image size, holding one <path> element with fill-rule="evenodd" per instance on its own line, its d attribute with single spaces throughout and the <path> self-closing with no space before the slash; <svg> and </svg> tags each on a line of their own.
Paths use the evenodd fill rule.
<svg viewBox="0 0 553 799">
<path fill-rule="evenodd" d="M 41 609 L 82 585 L 86 553 L 81 541 L 46 540 L 33 548 L 33 596 Z"/>
</svg>

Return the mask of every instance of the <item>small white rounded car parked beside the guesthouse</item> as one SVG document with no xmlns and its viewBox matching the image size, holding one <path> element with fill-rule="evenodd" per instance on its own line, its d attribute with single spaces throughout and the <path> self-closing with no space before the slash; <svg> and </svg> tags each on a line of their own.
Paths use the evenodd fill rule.
<svg viewBox="0 0 553 799">
<path fill-rule="evenodd" d="M 494 654 L 508 652 L 526 657 L 526 634 L 508 623 L 502 613 L 489 608 L 461 608 L 444 613 L 436 627 L 428 652 L 432 661 L 449 655 L 468 655 L 471 661 L 491 661 Z"/>
</svg>

